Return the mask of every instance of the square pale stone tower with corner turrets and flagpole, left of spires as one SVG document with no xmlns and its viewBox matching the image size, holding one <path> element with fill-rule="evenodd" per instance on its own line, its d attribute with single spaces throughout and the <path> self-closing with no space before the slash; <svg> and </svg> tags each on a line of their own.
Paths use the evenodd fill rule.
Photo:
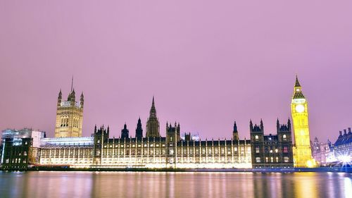
<svg viewBox="0 0 352 198">
<path fill-rule="evenodd" d="M 60 90 L 56 110 L 55 137 L 82 137 L 83 105 L 83 92 L 80 101 L 77 102 L 73 85 L 71 85 L 67 101 L 63 101 Z"/>
</svg>

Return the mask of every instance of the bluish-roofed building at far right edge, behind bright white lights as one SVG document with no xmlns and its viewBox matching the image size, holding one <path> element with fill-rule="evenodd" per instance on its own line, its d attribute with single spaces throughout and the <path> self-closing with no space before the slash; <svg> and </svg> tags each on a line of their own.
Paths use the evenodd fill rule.
<svg viewBox="0 0 352 198">
<path fill-rule="evenodd" d="M 337 137 L 334 143 L 334 155 L 338 161 L 349 162 L 352 161 L 352 132 L 351 128 L 348 128 L 348 132 L 344 129 L 344 134 L 339 132 L 339 137 Z"/>
</svg>

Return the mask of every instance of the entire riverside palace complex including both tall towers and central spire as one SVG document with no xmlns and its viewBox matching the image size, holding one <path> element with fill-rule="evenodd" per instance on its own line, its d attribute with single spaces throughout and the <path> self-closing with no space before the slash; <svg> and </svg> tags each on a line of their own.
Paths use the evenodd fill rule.
<svg viewBox="0 0 352 198">
<path fill-rule="evenodd" d="M 291 99 L 291 120 L 280 124 L 277 134 L 266 135 L 264 124 L 249 122 L 251 139 L 240 140 L 234 122 L 231 140 L 200 140 L 190 133 L 181 136 L 180 123 L 166 123 L 161 137 L 152 100 L 144 135 L 142 120 L 135 134 L 127 125 L 119 138 L 110 137 L 109 127 L 94 128 L 82 137 L 84 95 L 76 101 L 71 87 L 68 99 L 58 94 L 55 137 L 30 129 L 4 130 L 0 159 L 3 169 L 30 166 L 72 168 L 294 168 L 313 167 L 310 149 L 308 103 L 296 78 Z M 294 132 L 294 136 L 292 136 Z M 132 137 L 133 136 L 133 137 Z M 294 139 L 294 144 L 293 144 Z"/>
</svg>

